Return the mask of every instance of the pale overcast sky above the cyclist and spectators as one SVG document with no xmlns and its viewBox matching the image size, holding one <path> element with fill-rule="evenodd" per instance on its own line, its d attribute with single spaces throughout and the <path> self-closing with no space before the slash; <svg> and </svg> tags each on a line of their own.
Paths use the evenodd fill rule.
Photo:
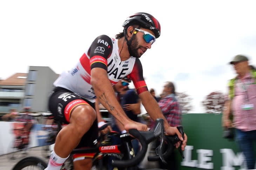
<svg viewBox="0 0 256 170">
<path fill-rule="evenodd" d="M 237 55 L 256 65 L 256 1 L 0 1 L 0 77 L 49 66 L 73 66 L 99 35 L 114 37 L 136 12 L 150 13 L 161 36 L 141 57 L 148 88 L 160 94 L 172 81 L 193 98 L 193 113 L 210 92 L 227 92 L 234 77 L 228 62 Z"/>
</svg>

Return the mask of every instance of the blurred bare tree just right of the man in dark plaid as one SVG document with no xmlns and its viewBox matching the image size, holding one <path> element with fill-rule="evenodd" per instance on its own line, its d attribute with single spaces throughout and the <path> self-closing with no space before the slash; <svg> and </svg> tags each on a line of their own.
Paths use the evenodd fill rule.
<svg viewBox="0 0 256 170">
<path fill-rule="evenodd" d="M 176 92 L 176 98 L 180 103 L 182 113 L 188 113 L 193 106 L 191 105 L 191 98 L 186 92 Z"/>
</svg>

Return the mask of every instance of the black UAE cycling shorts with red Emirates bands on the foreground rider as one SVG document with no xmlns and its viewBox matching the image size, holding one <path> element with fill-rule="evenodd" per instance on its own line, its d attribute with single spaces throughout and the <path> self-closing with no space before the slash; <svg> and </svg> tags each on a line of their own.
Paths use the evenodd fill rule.
<svg viewBox="0 0 256 170">
<path fill-rule="evenodd" d="M 61 123 L 65 124 L 69 123 L 69 116 L 72 110 L 79 105 L 90 105 L 95 109 L 94 103 L 83 99 L 79 95 L 62 87 L 55 87 L 48 100 L 50 112 L 52 112 L 56 120 L 59 120 Z M 95 146 L 97 143 L 97 136 L 98 125 L 96 119 L 88 132 L 83 135 L 76 148 Z"/>
</svg>

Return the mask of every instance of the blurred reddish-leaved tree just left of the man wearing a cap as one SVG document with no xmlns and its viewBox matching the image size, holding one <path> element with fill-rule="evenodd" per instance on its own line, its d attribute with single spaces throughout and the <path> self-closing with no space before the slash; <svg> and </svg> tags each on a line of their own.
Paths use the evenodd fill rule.
<svg viewBox="0 0 256 170">
<path fill-rule="evenodd" d="M 220 91 L 211 92 L 202 101 L 206 113 L 222 113 L 225 103 L 225 94 Z"/>
</svg>

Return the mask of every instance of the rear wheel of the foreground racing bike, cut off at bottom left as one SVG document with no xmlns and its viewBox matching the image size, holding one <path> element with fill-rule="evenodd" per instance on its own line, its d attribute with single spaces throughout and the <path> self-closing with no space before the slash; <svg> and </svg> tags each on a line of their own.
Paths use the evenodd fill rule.
<svg viewBox="0 0 256 170">
<path fill-rule="evenodd" d="M 20 160 L 12 170 L 22 170 L 22 169 L 34 169 L 34 170 L 44 170 L 47 167 L 47 163 L 38 157 L 28 156 Z"/>
</svg>

